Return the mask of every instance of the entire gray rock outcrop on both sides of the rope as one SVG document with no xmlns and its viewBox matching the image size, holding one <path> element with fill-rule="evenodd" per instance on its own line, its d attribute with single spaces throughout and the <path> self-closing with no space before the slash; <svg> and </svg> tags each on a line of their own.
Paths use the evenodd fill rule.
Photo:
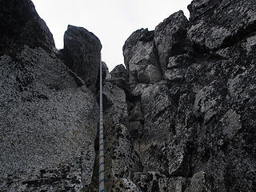
<svg viewBox="0 0 256 192">
<path fill-rule="evenodd" d="M 0 190 L 98 191 L 98 38 L 69 26 L 64 64 L 33 4 L 2 2 Z M 256 190 L 256 2 L 188 8 L 103 63 L 107 191 Z"/>
</svg>

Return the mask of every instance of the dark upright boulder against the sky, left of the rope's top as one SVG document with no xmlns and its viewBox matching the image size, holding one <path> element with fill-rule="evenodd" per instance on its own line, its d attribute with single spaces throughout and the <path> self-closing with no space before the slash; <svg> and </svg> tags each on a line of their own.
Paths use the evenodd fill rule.
<svg viewBox="0 0 256 192">
<path fill-rule="evenodd" d="M 93 33 L 82 27 L 68 26 L 64 34 L 65 64 L 93 92 L 97 90 L 101 50 L 102 44 Z"/>
</svg>

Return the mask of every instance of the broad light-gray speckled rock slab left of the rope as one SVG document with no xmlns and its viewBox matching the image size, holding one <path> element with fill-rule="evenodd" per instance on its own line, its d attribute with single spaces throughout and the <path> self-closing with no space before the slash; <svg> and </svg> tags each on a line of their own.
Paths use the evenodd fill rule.
<svg viewBox="0 0 256 192">
<path fill-rule="evenodd" d="M 0 189 L 88 186 L 98 128 L 94 95 L 41 48 L 3 55 L 0 66 Z"/>
</svg>

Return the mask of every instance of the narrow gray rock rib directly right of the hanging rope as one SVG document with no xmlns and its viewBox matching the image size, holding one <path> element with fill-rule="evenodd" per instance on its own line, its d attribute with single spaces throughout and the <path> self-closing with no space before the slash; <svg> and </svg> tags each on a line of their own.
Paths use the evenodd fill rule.
<svg viewBox="0 0 256 192">
<path fill-rule="evenodd" d="M 134 151 L 128 130 L 128 109 L 126 94 L 110 82 L 103 87 L 104 131 L 106 135 L 106 190 L 132 190 L 135 186 L 129 182 L 135 171 L 141 171 L 142 165 Z M 122 185 L 120 185 L 122 183 Z M 130 187 L 128 187 L 130 186 Z M 135 187 L 136 188 L 136 187 Z M 136 190 L 135 190 L 136 191 Z"/>
</svg>

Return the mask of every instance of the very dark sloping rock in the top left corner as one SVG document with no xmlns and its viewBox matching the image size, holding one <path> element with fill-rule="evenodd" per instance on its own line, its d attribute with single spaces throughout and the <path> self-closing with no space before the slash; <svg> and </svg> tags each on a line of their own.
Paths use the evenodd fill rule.
<svg viewBox="0 0 256 192">
<path fill-rule="evenodd" d="M 30 0 L 1 0 L 0 3 L 0 55 L 15 54 L 23 45 L 52 50 L 53 35 Z"/>
</svg>

